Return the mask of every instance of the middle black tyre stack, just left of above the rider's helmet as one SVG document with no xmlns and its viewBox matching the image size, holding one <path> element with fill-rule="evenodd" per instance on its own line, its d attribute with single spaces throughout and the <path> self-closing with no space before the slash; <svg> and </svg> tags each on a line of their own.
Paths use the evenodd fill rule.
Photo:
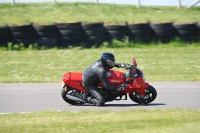
<svg viewBox="0 0 200 133">
<path fill-rule="evenodd" d="M 82 28 L 82 41 L 86 47 L 98 47 L 105 41 L 103 22 L 82 23 Z"/>
</svg>

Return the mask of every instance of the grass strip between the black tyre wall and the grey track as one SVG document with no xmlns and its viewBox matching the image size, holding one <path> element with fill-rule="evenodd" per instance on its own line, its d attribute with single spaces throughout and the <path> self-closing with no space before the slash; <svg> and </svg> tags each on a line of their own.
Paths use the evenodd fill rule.
<svg viewBox="0 0 200 133">
<path fill-rule="evenodd" d="M 105 51 L 112 52 L 116 62 L 131 63 L 136 58 L 147 81 L 200 81 L 199 46 L 169 43 L 125 48 L 1 49 L 0 82 L 60 82 L 65 72 L 84 71 Z"/>
</svg>

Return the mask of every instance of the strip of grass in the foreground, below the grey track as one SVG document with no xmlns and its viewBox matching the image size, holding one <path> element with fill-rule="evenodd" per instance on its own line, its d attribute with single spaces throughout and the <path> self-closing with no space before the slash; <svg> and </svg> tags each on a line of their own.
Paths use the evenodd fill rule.
<svg viewBox="0 0 200 133">
<path fill-rule="evenodd" d="M 183 109 L 0 114 L 3 133 L 199 133 L 200 111 Z"/>
</svg>

